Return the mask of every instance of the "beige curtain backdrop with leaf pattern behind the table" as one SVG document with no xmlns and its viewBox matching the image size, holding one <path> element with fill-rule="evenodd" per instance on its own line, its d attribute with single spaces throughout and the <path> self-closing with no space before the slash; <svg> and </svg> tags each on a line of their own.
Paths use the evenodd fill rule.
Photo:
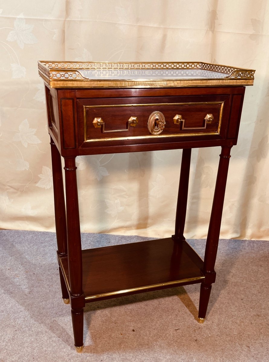
<svg viewBox="0 0 269 362">
<path fill-rule="evenodd" d="M 0 1 L 0 227 L 54 231 L 37 60 L 204 61 L 256 69 L 232 149 L 221 236 L 269 239 L 269 1 Z M 181 150 L 77 157 L 83 232 L 167 237 Z M 186 237 L 206 237 L 220 150 L 194 149 Z"/>
</svg>

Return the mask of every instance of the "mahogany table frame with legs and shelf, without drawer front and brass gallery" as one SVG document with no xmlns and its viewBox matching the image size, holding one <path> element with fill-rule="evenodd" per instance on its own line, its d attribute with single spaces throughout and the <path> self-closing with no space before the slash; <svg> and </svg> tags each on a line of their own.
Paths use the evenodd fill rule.
<svg viewBox="0 0 269 362">
<path fill-rule="evenodd" d="M 70 299 L 71 303 L 71 315 L 76 348 L 79 350 L 83 346 L 83 307 L 86 302 L 114 298 L 116 296 L 134 294 L 142 291 L 200 283 L 198 318 L 200 322 L 203 322 L 206 318 L 211 286 L 212 283 L 215 282 L 216 278 L 214 266 L 218 249 L 228 165 L 231 157 L 230 150 L 237 142 L 245 87 L 55 90 L 50 88 L 49 85 L 46 85 L 45 90 L 49 134 L 51 137 L 50 144 L 55 202 L 55 224 L 58 247 L 57 258 L 59 262 L 62 297 L 65 301 Z M 124 140 L 119 141 L 117 145 L 113 144 L 112 146 L 109 142 L 106 142 L 104 146 L 99 148 L 95 146 L 95 144 L 87 144 L 87 148 L 83 142 L 79 143 L 79 116 L 76 109 L 79 99 L 97 99 L 98 97 L 163 97 L 165 99 L 170 96 L 183 96 L 190 97 L 190 101 L 192 99 L 195 101 L 195 97 L 197 96 L 206 97 L 209 95 L 211 97 L 223 94 L 225 97 L 227 96 L 227 100 L 225 101 L 227 107 L 225 110 L 225 120 L 223 120 L 222 135 L 202 135 L 200 137 L 189 135 L 186 138 L 182 137 L 180 139 L 171 139 L 170 142 L 162 142 L 159 139 L 157 139 L 156 142 L 149 139 L 149 141 L 146 141 L 147 143 L 143 143 L 140 139 L 132 142 Z M 63 109 L 63 107 L 66 107 L 66 109 Z M 65 131 L 65 122 L 68 125 L 74 122 L 73 129 L 69 127 L 69 131 Z M 63 136 L 65 136 L 65 139 L 63 139 Z M 72 137 L 75 140 L 73 145 Z M 186 243 L 183 234 L 186 219 L 191 148 L 211 146 L 221 147 L 221 153 L 204 261 L 202 261 L 193 249 L 191 249 Z M 174 235 L 172 235 L 171 238 L 160 239 L 159 241 L 144 241 L 141 243 L 131 243 L 115 247 L 82 251 L 80 240 L 78 188 L 76 181 L 76 156 L 178 148 L 182 148 L 183 152 Z M 64 197 L 61 156 L 64 157 L 65 161 L 66 199 Z M 111 262 L 116 263 L 117 256 L 112 257 L 112 255 L 120 255 L 121 253 L 124 256 L 120 259 L 122 263 L 124 262 L 122 260 L 125 260 L 124 258 L 130 258 L 130 255 L 133 255 L 133 253 L 135 253 L 133 257 L 137 257 L 137 260 L 140 260 L 141 264 L 142 262 L 147 261 L 152 262 L 152 259 L 145 256 L 145 253 L 153 250 L 155 253 L 153 258 L 159 260 L 160 255 L 166 249 L 164 245 L 167 245 L 167 249 L 169 249 L 167 254 L 164 256 L 164 265 L 166 265 L 166 269 L 163 271 L 156 269 L 156 263 L 152 266 L 153 269 L 155 268 L 153 274 L 159 275 L 159 282 L 157 279 L 154 279 L 154 275 L 142 274 L 144 271 L 142 270 L 142 272 L 140 272 L 140 270 L 138 270 L 138 268 L 134 265 L 133 269 L 130 270 L 130 275 L 127 275 L 126 277 L 127 279 L 129 278 L 128 280 L 132 280 L 133 284 L 126 287 L 127 282 L 122 277 L 123 271 L 111 271 L 109 270 L 111 265 L 107 265 L 107 267 L 105 266 L 105 261 L 113 258 L 115 260 L 113 259 Z M 92 265 L 97 265 L 96 263 L 98 258 L 101 263 L 100 270 L 102 269 L 102 275 L 105 276 L 109 274 L 112 281 L 111 283 L 114 283 L 113 280 L 115 280 L 115 288 L 122 289 L 114 291 L 106 291 L 105 289 L 99 290 L 98 283 L 100 281 L 97 280 L 94 282 L 91 280 L 91 274 L 88 272 L 86 262 L 92 263 Z M 186 263 L 184 260 L 188 260 L 188 265 L 191 266 L 185 265 Z M 120 267 L 121 265 L 119 265 L 119 268 Z M 98 278 L 99 267 L 96 266 L 95 268 L 97 275 L 95 275 L 95 277 Z M 105 268 L 107 269 L 105 270 Z M 141 268 L 143 267 L 141 266 Z M 161 269 L 161 266 L 159 269 Z M 144 285 L 139 284 L 141 277 L 145 279 Z M 117 283 L 119 283 L 119 286 Z M 91 289 L 94 290 L 93 293 L 91 293 Z"/>
</svg>

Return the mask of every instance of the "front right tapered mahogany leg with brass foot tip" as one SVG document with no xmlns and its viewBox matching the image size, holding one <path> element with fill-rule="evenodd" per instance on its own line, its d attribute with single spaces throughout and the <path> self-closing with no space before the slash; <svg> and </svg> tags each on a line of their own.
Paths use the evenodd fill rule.
<svg viewBox="0 0 269 362">
<path fill-rule="evenodd" d="M 198 319 L 201 322 L 203 322 L 203 320 L 206 318 L 211 285 L 215 282 L 216 279 L 214 267 L 218 251 L 220 223 L 222 220 L 229 159 L 231 157 L 230 151 L 231 147 L 222 147 L 222 152 L 220 153 L 219 168 L 206 241 L 206 250 L 204 253 L 203 273 L 205 275 L 205 279 L 204 282 L 201 284 L 198 312 Z"/>
</svg>

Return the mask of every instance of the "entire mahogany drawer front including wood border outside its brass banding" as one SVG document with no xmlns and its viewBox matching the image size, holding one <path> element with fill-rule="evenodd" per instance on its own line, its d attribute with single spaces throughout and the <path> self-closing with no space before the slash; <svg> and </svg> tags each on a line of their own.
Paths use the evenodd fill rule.
<svg viewBox="0 0 269 362">
<path fill-rule="evenodd" d="M 190 136 L 222 138 L 227 118 L 224 105 L 229 97 L 188 98 L 79 99 L 81 141 L 92 147 L 126 140 L 159 143 Z"/>
</svg>

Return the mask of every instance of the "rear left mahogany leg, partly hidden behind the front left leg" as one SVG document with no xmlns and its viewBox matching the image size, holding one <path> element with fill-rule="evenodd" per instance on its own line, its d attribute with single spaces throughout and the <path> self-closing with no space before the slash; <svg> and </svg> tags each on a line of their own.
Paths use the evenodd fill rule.
<svg viewBox="0 0 269 362">
<path fill-rule="evenodd" d="M 58 249 L 57 255 L 59 257 L 59 256 L 67 256 L 65 194 L 63 192 L 61 155 L 52 138 L 50 138 L 50 147 L 51 147 L 51 163 L 52 163 L 52 174 L 53 174 L 55 227 L 56 227 L 56 238 L 57 238 L 57 249 Z M 59 267 L 59 275 L 61 281 L 62 297 L 63 300 L 67 302 L 67 300 L 69 300 L 69 294 L 60 267 Z"/>
</svg>

